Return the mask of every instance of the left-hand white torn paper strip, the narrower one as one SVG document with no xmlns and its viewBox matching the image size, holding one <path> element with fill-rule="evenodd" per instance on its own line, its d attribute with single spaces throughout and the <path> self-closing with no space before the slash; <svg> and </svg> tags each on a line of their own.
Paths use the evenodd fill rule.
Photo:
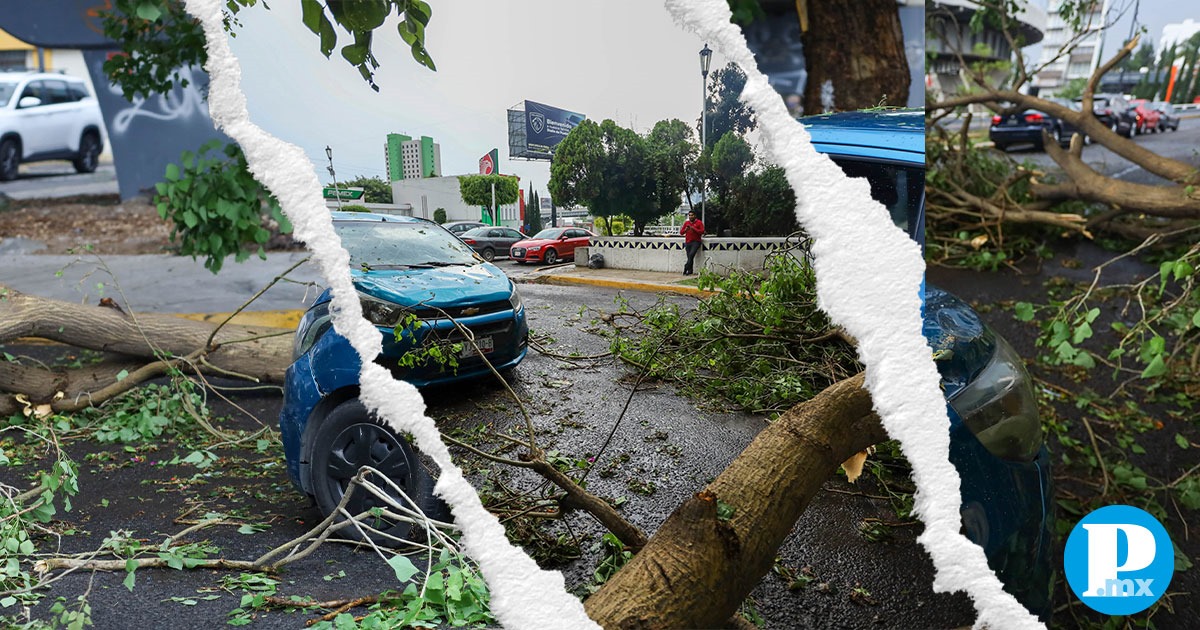
<svg viewBox="0 0 1200 630">
<path fill-rule="evenodd" d="M 462 542 L 492 593 L 492 612 L 508 628 L 599 629 L 587 617 L 583 602 L 569 594 L 563 575 L 544 571 L 508 541 L 504 527 L 484 509 L 475 488 L 450 460 L 437 427 L 425 414 L 425 402 L 413 385 L 396 380 L 374 358 L 382 350 L 379 330 L 362 318 L 350 282 L 349 254 L 334 233 L 334 223 L 320 194 L 320 182 L 304 151 L 251 122 L 241 92 L 241 66 L 229 48 L 221 23 L 221 0 L 186 0 L 208 40 L 211 77 L 209 110 L 214 122 L 241 145 L 254 179 L 280 200 L 295 236 L 312 252 L 322 277 L 334 290 L 334 328 L 349 340 L 362 359 L 360 398 L 397 431 L 410 433 L 416 446 L 438 464 L 436 491 L 454 511 Z"/>
</svg>

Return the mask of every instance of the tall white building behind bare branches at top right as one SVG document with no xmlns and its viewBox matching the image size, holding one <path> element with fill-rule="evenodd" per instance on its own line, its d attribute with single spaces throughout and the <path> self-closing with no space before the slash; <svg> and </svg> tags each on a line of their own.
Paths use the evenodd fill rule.
<svg viewBox="0 0 1200 630">
<path fill-rule="evenodd" d="M 1040 64 L 1045 67 L 1033 79 L 1038 94 L 1050 96 L 1072 80 L 1087 79 L 1100 66 L 1110 4 L 1111 0 L 1097 0 L 1092 11 L 1080 18 L 1079 38 L 1067 52 L 1062 48 L 1075 38 L 1076 32 L 1058 12 L 1062 0 L 1050 0 L 1045 40 L 1042 42 Z M 1112 52 L 1109 50 L 1110 54 Z"/>
</svg>

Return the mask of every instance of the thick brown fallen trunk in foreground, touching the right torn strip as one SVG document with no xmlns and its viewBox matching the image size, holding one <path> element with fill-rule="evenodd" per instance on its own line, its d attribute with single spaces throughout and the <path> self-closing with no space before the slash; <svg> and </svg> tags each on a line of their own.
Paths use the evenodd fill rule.
<svg viewBox="0 0 1200 630">
<path fill-rule="evenodd" d="M 588 614 L 605 628 L 724 625 L 838 464 L 884 439 L 863 374 L 793 407 L 667 518 Z"/>
</svg>

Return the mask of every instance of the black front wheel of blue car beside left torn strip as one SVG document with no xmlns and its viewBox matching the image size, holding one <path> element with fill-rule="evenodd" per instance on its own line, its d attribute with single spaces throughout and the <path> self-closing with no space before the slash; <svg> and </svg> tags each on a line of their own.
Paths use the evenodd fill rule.
<svg viewBox="0 0 1200 630">
<path fill-rule="evenodd" d="M 355 487 L 346 502 L 344 509 L 350 515 L 359 515 L 374 508 L 397 512 L 389 500 L 412 509 L 415 504 L 426 516 L 436 521 L 450 521 L 446 504 L 433 494 L 433 478 L 421 466 L 416 451 L 408 439 L 397 436 L 395 431 L 380 422 L 361 401 L 354 398 L 335 408 L 319 421 L 320 426 L 312 433 L 312 492 L 317 508 L 323 516 L 337 510 L 350 480 L 359 469 L 370 466 L 379 470 L 395 484 L 408 498 L 404 500 L 386 481 L 373 474 L 365 476 L 386 496 L 377 497 L 365 487 Z M 338 521 L 344 520 L 340 516 Z M 403 521 L 392 521 L 384 516 L 368 516 L 362 524 L 398 539 L 412 539 L 421 534 L 420 526 Z M 342 529 L 347 536 L 364 539 L 364 530 L 356 527 Z M 396 545 L 386 536 L 371 536 L 379 545 Z"/>
</svg>

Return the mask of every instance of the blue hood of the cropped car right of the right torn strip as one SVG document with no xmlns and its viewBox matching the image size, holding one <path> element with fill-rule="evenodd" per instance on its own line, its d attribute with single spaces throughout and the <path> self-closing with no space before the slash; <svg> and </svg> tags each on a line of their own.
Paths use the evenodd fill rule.
<svg viewBox="0 0 1200 630">
<path fill-rule="evenodd" d="M 974 308 L 934 287 L 925 287 L 925 322 L 922 332 L 934 350 L 946 397 L 958 394 L 973 379 L 995 350 L 995 334 Z"/>
</svg>

